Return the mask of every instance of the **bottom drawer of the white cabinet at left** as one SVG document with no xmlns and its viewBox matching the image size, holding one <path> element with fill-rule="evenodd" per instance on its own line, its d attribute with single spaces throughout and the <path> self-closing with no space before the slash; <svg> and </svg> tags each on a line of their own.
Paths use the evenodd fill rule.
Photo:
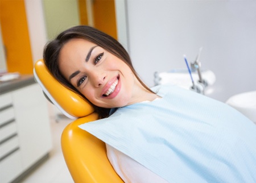
<svg viewBox="0 0 256 183">
<path fill-rule="evenodd" d="M 22 173 L 20 150 L 15 151 L 6 159 L 0 161 L 1 183 L 13 181 L 20 173 Z"/>
</svg>

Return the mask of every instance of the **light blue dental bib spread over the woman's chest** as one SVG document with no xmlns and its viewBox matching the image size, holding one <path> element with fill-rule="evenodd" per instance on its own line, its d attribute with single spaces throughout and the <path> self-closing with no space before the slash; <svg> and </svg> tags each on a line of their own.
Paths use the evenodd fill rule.
<svg viewBox="0 0 256 183">
<path fill-rule="evenodd" d="M 168 182 L 256 182 L 256 125 L 225 103 L 177 86 L 79 126 Z"/>
</svg>

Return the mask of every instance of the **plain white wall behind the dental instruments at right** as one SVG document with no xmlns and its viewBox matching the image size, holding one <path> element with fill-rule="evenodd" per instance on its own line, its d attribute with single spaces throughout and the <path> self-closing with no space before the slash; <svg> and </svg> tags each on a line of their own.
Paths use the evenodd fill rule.
<svg viewBox="0 0 256 183">
<path fill-rule="evenodd" d="M 130 55 L 150 86 L 154 72 L 201 64 L 217 80 L 210 97 L 256 90 L 256 1 L 127 0 Z"/>
</svg>

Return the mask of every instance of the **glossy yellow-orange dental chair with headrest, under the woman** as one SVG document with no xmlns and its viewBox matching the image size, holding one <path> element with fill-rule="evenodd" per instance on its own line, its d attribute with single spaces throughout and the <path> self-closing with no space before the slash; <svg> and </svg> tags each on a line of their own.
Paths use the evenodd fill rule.
<svg viewBox="0 0 256 183">
<path fill-rule="evenodd" d="M 73 180 L 76 183 L 123 182 L 106 156 L 105 143 L 78 127 L 98 118 L 93 107 L 55 80 L 43 60 L 36 62 L 34 76 L 53 104 L 67 117 L 77 118 L 61 135 L 61 148 Z"/>
</svg>

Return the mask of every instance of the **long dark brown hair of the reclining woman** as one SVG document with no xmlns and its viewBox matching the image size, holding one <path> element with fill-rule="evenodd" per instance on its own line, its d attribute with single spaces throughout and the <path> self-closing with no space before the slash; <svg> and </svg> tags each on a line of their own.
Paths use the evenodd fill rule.
<svg viewBox="0 0 256 183">
<path fill-rule="evenodd" d="M 53 76 L 64 86 L 67 88 L 75 91 L 76 93 L 82 95 L 70 82 L 68 82 L 63 74 L 61 74 L 59 70 L 59 54 L 60 50 L 65 43 L 69 40 L 74 38 L 82 38 L 88 40 L 94 44 L 99 45 L 100 47 L 104 48 L 106 51 L 112 53 L 113 55 L 117 56 L 123 62 L 125 62 L 130 69 L 135 74 L 135 77 L 141 82 L 141 84 L 147 90 L 151 91 L 139 78 L 138 74 L 135 72 L 133 64 L 131 63 L 131 59 L 125 48 L 112 36 L 105 34 L 97 30 L 96 28 L 89 27 L 89 26 L 76 26 L 69 28 L 61 32 L 54 40 L 49 41 L 44 47 L 43 58 L 44 62 L 46 63 L 47 68 L 53 74 Z M 152 91 L 151 91 L 152 92 Z M 85 97 L 84 97 L 85 98 Z M 92 104 L 93 105 L 93 104 Z M 98 107 L 93 105 L 95 111 L 100 115 L 100 118 L 108 117 L 109 110 L 102 107 Z"/>
</svg>

